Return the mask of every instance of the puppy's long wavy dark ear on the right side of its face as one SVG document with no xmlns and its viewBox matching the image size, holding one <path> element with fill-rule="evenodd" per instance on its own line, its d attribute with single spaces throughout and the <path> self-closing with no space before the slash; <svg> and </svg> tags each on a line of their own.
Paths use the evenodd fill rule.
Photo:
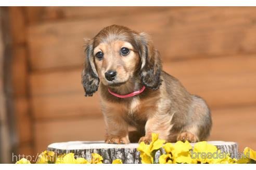
<svg viewBox="0 0 256 170">
<path fill-rule="evenodd" d="M 152 90 L 159 89 L 162 80 L 162 62 L 157 49 L 153 47 L 152 41 L 146 33 L 137 35 L 136 43 L 141 60 L 140 76 L 145 87 Z"/>
</svg>

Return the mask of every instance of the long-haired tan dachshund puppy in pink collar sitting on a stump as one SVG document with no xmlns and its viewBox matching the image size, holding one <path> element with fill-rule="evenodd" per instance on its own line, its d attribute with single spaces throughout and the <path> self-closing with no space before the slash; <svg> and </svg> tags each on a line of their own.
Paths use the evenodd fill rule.
<svg viewBox="0 0 256 170">
<path fill-rule="evenodd" d="M 162 70 L 159 52 L 147 34 L 107 26 L 86 40 L 85 53 L 85 96 L 99 88 L 106 143 L 129 144 L 129 125 L 136 127 L 139 142 L 147 144 L 151 133 L 167 142 L 208 138 L 212 125 L 208 106 Z"/>
</svg>

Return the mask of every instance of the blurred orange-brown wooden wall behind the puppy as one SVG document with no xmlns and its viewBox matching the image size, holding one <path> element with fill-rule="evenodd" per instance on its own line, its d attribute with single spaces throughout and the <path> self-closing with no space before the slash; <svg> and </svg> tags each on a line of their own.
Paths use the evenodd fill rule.
<svg viewBox="0 0 256 170">
<path fill-rule="evenodd" d="M 103 140 L 84 97 L 83 38 L 120 24 L 151 35 L 163 69 L 206 100 L 209 140 L 256 150 L 256 7 L 1 7 L 0 161 L 51 143 Z"/>
</svg>

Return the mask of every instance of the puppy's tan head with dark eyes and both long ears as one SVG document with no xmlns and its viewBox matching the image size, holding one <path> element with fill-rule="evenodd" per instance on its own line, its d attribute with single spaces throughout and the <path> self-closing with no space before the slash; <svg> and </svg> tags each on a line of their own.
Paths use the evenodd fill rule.
<svg viewBox="0 0 256 170">
<path fill-rule="evenodd" d="M 86 40 L 85 54 L 85 96 L 97 91 L 100 80 L 105 86 L 117 87 L 139 76 L 141 83 L 152 90 L 161 84 L 159 52 L 145 33 L 120 25 L 105 27 L 93 39 Z"/>
</svg>

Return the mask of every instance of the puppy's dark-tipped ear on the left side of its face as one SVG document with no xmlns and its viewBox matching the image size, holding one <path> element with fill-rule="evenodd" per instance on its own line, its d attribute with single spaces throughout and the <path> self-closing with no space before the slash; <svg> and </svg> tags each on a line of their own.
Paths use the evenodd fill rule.
<svg viewBox="0 0 256 170">
<path fill-rule="evenodd" d="M 95 67 L 93 57 L 93 40 L 85 39 L 85 62 L 82 71 L 82 84 L 85 91 L 85 96 L 93 96 L 99 87 L 99 77 Z"/>
</svg>

